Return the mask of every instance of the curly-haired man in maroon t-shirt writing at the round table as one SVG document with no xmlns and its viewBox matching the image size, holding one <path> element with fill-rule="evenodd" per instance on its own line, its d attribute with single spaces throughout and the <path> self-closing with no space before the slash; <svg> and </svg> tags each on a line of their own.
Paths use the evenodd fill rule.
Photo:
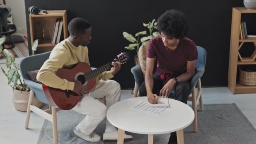
<svg viewBox="0 0 256 144">
<path fill-rule="evenodd" d="M 161 35 L 152 38 L 147 45 L 145 81 L 139 88 L 140 96 L 147 96 L 156 104 L 158 96 L 170 97 L 187 104 L 190 79 L 195 75 L 197 47 L 185 37 L 188 30 L 187 19 L 181 11 L 168 10 L 157 20 Z M 149 91 L 155 93 L 151 96 Z M 174 91 L 172 96 L 170 93 Z M 176 132 L 171 133 L 168 144 L 176 144 Z"/>
</svg>

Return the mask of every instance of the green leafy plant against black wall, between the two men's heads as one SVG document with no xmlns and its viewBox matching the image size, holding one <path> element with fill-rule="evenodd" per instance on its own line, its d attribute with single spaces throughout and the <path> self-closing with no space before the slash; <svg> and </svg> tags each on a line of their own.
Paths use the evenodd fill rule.
<svg viewBox="0 0 256 144">
<path fill-rule="evenodd" d="M 129 46 L 126 46 L 125 48 L 128 50 L 135 49 L 136 52 L 138 53 L 141 45 L 147 44 L 152 37 L 159 35 L 159 32 L 157 32 L 156 25 L 157 25 L 157 22 L 155 21 L 155 19 L 153 19 L 152 22 L 149 22 L 148 24 L 143 23 L 143 26 L 148 28 L 148 32 L 147 30 L 144 30 L 142 32 L 137 32 L 135 34 L 135 37 L 133 37 L 133 35 L 129 34 L 128 32 L 123 32 L 123 37 L 129 42 L 131 42 L 131 44 Z"/>
</svg>

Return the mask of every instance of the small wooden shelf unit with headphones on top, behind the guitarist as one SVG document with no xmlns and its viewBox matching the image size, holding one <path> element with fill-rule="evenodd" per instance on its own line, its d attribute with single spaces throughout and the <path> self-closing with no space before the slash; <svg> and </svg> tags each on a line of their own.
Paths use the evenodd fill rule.
<svg viewBox="0 0 256 144">
<path fill-rule="evenodd" d="M 32 51 L 32 55 L 51 51 L 56 44 L 51 43 L 54 24 L 57 18 L 63 20 L 63 37 L 66 39 L 67 36 L 67 11 L 56 10 L 47 11 L 47 14 L 29 14 L 29 27 L 31 45 L 33 45 L 36 39 L 39 39 L 37 51 Z M 44 35 L 44 37 L 43 37 Z"/>
</svg>

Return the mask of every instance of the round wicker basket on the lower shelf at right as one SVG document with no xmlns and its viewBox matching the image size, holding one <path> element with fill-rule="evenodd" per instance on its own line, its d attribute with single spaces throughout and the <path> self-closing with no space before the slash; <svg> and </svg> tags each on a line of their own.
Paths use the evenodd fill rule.
<svg viewBox="0 0 256 144">
<path fill-rule="evenodd" d="M 239 66 L 239 83 L 242 85 L 256 85 L 256 67 Z"/>
</svg>

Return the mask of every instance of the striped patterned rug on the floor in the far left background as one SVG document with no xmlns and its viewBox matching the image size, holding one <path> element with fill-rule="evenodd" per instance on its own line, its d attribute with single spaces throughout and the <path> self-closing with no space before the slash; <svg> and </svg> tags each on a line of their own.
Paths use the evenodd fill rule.
<svg viewBox="0 0 256 144">
<path fill-rule="evenodd" d="M 27 37 L 23 36 L 24 42 L 23 43 L 15 43 L 15 48 L 10 49 L 9 51 L 13 53 L 13 55 L 16 58 L 21 58 L 21 57 L 26 57 L 29 56 L 29 47 L 28 47 L 28 42 L 27 42 Z M 10 45 L 5 45 L 6 47 L 9 47 Z M 4 54 L 1 53 L 4 59 Z"/>
</svg>

